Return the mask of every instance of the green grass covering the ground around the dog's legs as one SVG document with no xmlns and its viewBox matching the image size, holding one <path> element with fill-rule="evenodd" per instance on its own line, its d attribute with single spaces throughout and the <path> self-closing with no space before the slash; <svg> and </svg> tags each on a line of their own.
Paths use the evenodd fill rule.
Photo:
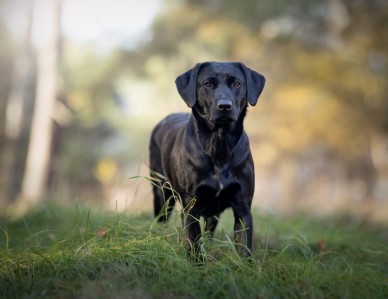
<svg viewBox="0 0 388 299">
<path fill-rule="evenodd" d="M 254 261 L 221 217 L 207 262 L 186 259 L 179 216 L 45 204 L 0 218 L 0 298 L 388 298 L 388 229 L 351 217 L 254 214 Z"/>
</svg>

